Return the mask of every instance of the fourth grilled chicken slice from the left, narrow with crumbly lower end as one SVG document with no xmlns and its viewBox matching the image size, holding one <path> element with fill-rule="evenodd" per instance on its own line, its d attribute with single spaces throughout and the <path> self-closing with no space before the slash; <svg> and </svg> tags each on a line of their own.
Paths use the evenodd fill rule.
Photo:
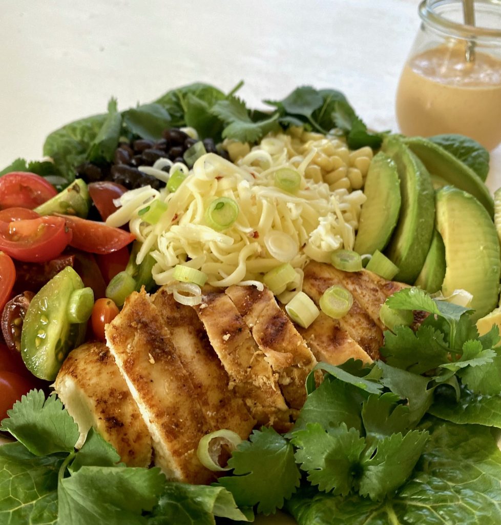
<svg viewBox="0 0 501 525">
<path fill-rule="evenodd" d="M 225 293 L 209 292 L 194 308 L 230 376 L 230 388 L 243 398 L 252 417 L 279 430 L 290 428 L 290 412 L 280 392 L 278 374 L 259 350 L 231 299 Z"/>
</svg>

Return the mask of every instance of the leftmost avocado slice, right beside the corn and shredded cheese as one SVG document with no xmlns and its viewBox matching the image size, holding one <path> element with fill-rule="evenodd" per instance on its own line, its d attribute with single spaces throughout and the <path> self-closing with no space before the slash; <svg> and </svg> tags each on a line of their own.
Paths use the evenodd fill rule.
<svg viewBox="0 0 501 525">
<path fill-rule="evenodd" d="M 400 181 L 397 165 L 380 151 L 369 166 L 354 250 L 359 254 L 382 251 L 395 226 L 400 212 Z"/>
</svg>

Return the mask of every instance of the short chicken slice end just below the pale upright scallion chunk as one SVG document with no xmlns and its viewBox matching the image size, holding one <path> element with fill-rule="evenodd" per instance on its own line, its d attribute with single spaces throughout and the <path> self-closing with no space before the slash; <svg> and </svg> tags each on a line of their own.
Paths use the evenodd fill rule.
<svg viewBox="0 0 501 525">
<path fill-rule="evenodd" d="M 308 342 L 319 362 L 338 365 L 352 358 L 364 363 L 372 362 L 360 345 L 340 327 L 339 321 L 326 316 L 324 312 L 320 312 L 308 328 L 297 327 L 297 331 Z"/>
</svg>

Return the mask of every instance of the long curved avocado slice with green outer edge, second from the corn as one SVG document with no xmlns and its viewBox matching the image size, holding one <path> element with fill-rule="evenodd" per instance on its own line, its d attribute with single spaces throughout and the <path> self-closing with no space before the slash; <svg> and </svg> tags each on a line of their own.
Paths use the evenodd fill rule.
<svg viewBox="0 0 501 525">
<path fill-rule="evenodd" d="M 412 284 L 423 267 L 433 234 L 433 185 L 422 162 L 397 137 L 388 138 L 383 149 L 397 165 L 402 198 L 400 217 L 386 255 L 399 267 L 396 280 Z"/>
</svg>

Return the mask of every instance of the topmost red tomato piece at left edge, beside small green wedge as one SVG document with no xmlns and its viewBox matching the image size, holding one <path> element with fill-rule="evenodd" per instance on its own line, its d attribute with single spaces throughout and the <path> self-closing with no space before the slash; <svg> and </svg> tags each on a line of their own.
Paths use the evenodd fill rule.
<svg viewBox="0 0 501 525">
<path fill-rule="evenodd" d="M 57 195 L 45 178 L 35 173 L 13 171 L 0 177 L 0 208 L 36 208 Z"/>
</svg>

